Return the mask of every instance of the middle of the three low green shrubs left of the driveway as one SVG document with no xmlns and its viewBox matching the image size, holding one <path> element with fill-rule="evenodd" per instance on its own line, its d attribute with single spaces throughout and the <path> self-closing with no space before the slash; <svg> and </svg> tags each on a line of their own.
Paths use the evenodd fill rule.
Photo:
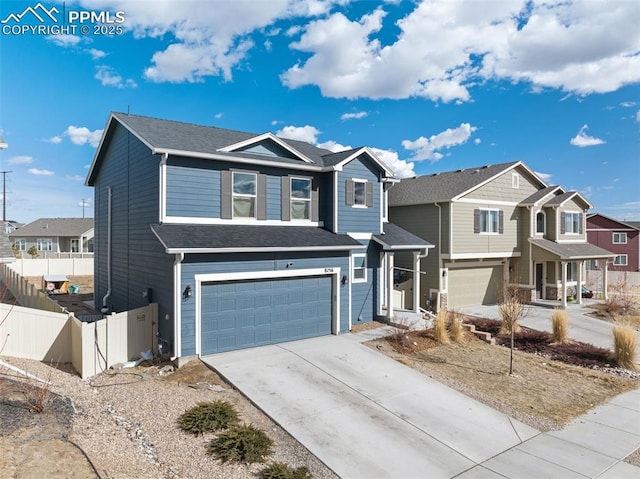
<svg viewBox="0 0 640 479">
<path fill-rule="evenodd" d="M 273 452 L 273 441 L 251 424 L 233 426 L 212 439 L 207 452 L 222 462 L 264 462 Z"/>
</svg>

